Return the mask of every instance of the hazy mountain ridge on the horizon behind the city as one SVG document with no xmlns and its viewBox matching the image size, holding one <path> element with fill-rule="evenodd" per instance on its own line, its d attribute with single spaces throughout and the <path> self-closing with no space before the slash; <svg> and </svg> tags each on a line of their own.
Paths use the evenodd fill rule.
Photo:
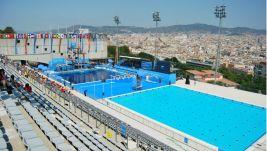
<svg viewBox="0 0 267 151">
<path fill-rule="evenodd" d="M 117 33 L 116 26 L 92 26 L 92 25 L 73 25 L 71 27 L 60 28 L 59 32 L 74 31 L 77 32 L 79 28 L 87 28 L 92 33 L 105 33 L 105 34 L 115 34 Z M 161 26 L 157 30 L 155 27 L 138 27 L 138 26 L 119 26 L 119 33 L 175 33 L 175 32 L 184 32 L 184 33 L 218 33 L 218 27 L 214 25 L 207 25 L 201 23 L 187 24 L 187 25 L 170 25 L 170 26 Z M 233 28 L 222 28 L 222 33 L 231 34 L 231 35 L 240 35 L 240 34 L 256 34 L 256 35 L 266 35 L 265 29 L 253 29 L 249 27 L 233 27 Z M 48 32 L 48 31 L 42 31 Z M 51 32 L 51 31 L 50 31 Z M 53 29 L 52 33 L 57 33 L 57 29 Z"/>
</svg>

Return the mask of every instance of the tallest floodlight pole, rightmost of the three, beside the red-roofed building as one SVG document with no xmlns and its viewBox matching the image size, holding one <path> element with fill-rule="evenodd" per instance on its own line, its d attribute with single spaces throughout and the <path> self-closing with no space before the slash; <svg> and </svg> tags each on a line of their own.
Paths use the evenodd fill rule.
<svg viewBox="0 0 267 151">
<path fill-rule="evenodd" d="M 222 6 L 216 6 L 215 7 L 215 16 L 216 18 L 219 18 L 219 31 L 218 31 L 218 48 L 216 51 L 216 62 L 215 62 L 215 74 L 214 74 L 214 84 L 217 81 L 217 75 L 218 75 L 218 68 L 220 66 L 220 58 L 221 58 L 221 28 L 222 28 L 222 19 L 226 17 L 224 5 Z"/>
</svg>

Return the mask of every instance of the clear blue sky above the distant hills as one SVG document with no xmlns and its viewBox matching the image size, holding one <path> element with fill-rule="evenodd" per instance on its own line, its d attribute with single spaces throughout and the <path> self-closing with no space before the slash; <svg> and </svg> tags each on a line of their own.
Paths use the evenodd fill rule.
<svg viewBox="0 0 267 151">
<path fill-rule="evenodd" d="M 152 12 L 159 11 L 159 26 L 204 23 L 218 25 L 217 5 L 226 5 L 224 27 L 266 28 L 266 0 L 0 0 L 0 28 L 40 31 L 71 25 L 153 27 Z"/>
</svg>

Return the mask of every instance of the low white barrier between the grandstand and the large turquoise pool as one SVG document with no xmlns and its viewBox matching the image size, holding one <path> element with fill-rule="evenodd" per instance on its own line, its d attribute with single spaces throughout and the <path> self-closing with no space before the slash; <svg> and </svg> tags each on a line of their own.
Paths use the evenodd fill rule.
<svg viewBox="0 0 267 151">
<path fill-rule="evenodd" d="M 120 112 L 123 115 L 126 115 L 130 117 L 131 119 L 138 121 L 139 123 L 142 123 L 143 125 L 146 125 L 168 137 L 170 137 L 170 140 L 174 142 L 179 142 L 184 144 L 185 146 L 189 146 L 196 150 L 205 150 L 205 151 L 217 151 L 218 147 L 211 145 L 209 143 L 206 143 L 202 140 L 199 140 L 193 136 L 190 136 L 188 134 L 185 134 L 181 131 L 178 131 L 174 128 L 171 128 L 169 126 L 166 126 L 160 122 L 157 122 L 153 119 L 150 119 L 149 117 L 145 117 L 144 115 L 141 115 L 140 113 L 137 113 L 135 111 L 132 111 L 130 109 L 127 109 L 115 102 L 110 101 L 109 99 L 102 99 L 100 102 L 109 108 L 116 110 Z M 187 142 L 185 140 L 188 140 Z"/>
</svg>

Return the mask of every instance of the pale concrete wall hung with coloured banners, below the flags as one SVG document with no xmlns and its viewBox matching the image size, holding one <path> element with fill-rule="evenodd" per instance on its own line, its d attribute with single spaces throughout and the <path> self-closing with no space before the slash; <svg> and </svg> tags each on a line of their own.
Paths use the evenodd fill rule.
<svg viewBox="0 0 267 151">
<path fill-rule="evenodd" d="M 106 59 L 107 38 L 103 35 L 92 37 L 40 38 L 37 35 L 36 38 L 27 38 L 26 35 L 26 37 L 18 39 L 0 38 L 0 54 L 7 55 L 10 59 L 14 60 L 36 60 L 48 63 L 53 57 L 60 56 L 61 53 L 63 53 L 64 57 L 67 57 L 68 48 L 71 47 L 71 43 L 76 43 L 76 48 L 81 48 L 86 58 Z M 48 54 L 53 51 L 55 51 L 55 54 Z M 50 60 L 41 58 L 42 54 L 45 54 L 45 59 Z"/>
</svg>

